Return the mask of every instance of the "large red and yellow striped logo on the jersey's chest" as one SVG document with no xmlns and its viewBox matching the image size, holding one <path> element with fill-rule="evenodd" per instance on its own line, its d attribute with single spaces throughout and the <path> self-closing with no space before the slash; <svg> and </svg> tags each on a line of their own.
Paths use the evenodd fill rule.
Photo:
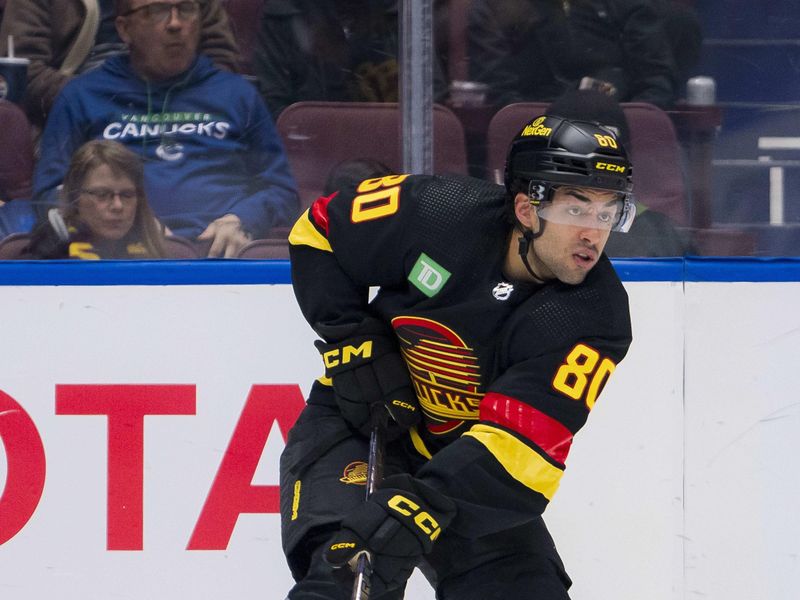
<svg viewBox="0 0 800 600">
<path fill-rule="evenodd" d="M 442 435 L 465 421 L 476 421 L 483 391 L 472 348 L 453 330 L 430 319 L 395 317 L 392 326 L 428 430 Z"/>
</svg>

